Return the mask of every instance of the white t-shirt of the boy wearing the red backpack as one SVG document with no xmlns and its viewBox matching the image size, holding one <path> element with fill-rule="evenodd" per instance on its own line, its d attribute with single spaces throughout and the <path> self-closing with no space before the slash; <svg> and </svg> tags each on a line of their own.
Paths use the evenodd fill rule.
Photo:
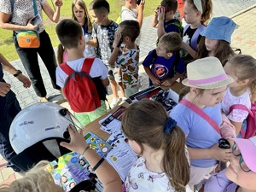
<svg viewBox="0 0 256 192">
<path fill-rule="evenodd" d="M 84 58 L 80 58 L 75 61 L 67 61 L 67 65 L 73 68 L 74 71 L 80 72 L 82 70 L 84 64 Z M 91 78 L 99 77 L 100 79 L 108 78 L 108 68 L 103 64 L 102 60 L 95 58 L 90 68 L 89 73 Z M 58 84 L 61 88 L 64 87 L 65 80 L 67 79 L 67 74 L 64 73 L 61 67 L 56 68 L 56 84 Z"/>
</svg>

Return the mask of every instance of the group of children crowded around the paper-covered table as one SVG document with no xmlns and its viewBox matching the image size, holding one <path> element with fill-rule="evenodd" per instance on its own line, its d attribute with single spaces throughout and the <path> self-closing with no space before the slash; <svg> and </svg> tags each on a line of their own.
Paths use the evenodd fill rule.
<svg viewBox="0 0 256 192">
<path fill-rule="evenodd" d="M 118 84 L 124 98 L 139 89 L 140 49 L 136 39 L 141 23 L 123 20 L 118 26 L 108 18 L 109 4 L 105 0 L 93 1 L 89 9 L 94 25 L 84 2 L 76 0 L 73 20 L 61 20 L 56 27 L 61 41 L 59 62 L 67 62 L 73 70 L 81 71 L 84 57 L 96 55 L 98 58 L 94 59 L 89 75 L 99 79 L 103 87 L 110 81 L 114 107 L 119 102 Z M 211 0 L 186 0 L 184 28 L 174 18 L 176 10 L 176 0 L 162 0 L 154 10 L 152 25 L 158 28 L 159 39 L 157 48 L 143 61 L 143 67 L 150 85 L 171 86 L 179 79 L 186 88 L 170 114 L 160 103 L 149 100 L 126 109 L 121 128 L 140 158 L 131 167 L 124 190 L 191 191 L 215 172 L 218 161 L 230 160 L 226 171 L 213 175 L 205 183 L 206 191 L 216 191 L 212 183 L 216 185 L 218 179 L 224 183 L 218 186 L 219 191 L 256 191 L 253 182 L 256 139 L 236 138 L 248 112 L 230 111 L 234 104 L 250 109 L 255 101 L 256 60 L 250 55 L 236 55 L 230 47 L 231 34 L 236 28 L 233 20 L 223 16 L 212 18 L 208 24 Z M 56 79 L 63 88 L 67 74 L 61 65 L 56 69 Z M 67 101 L 70 99 L 75 98 Z M 75 116 L 87 119 L 82 122 L 86 125 L 102 113 L 106 113 L 103 99 L 100 108 Z M 224 115 L 230 120 L 229 134 L 219 129 Z M 222 137 L 228 138 L 233 147 L 219 148 Z M 82 151 L 82 147 L 74 149 Z M 246 178 L 247 182 L 243 180 Z"/>
</svg>

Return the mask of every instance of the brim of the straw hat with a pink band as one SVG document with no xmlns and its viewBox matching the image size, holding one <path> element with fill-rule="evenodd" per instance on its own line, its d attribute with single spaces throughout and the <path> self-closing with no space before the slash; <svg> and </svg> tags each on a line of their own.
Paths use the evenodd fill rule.
<svg viewBox="0 0 256 192">
<path fill-rule="evenodd" d="M 182 84 L 188 86 L 188 87 L 195 87 L 195 88 L 199 88 L 199 89 L 216 89 L 216 88 L 220 88 L 223 86 L 226 86 L 228 84 L 231 84 L 234 82 L 234 79 L 232 79 L 230 77 L 230 75 L 227 75 L 227 79 L 218 81 L 218 82 L 214 82 L 211 84 L 189 84 L 188 79 L 183 79 Z"/>
</svg>

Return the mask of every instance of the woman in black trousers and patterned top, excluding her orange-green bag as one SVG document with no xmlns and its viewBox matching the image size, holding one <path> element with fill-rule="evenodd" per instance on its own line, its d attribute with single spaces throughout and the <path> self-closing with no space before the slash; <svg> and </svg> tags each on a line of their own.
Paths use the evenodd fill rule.
<svg viewBox="0 0 256 192">
<path fill-rule="evenodd" d="M 52 20 L 55 23 L 58 22 L 62 5 L 61 0 L 55 0 L 55 11 L 50 8 L 49 3 L 47 3 L 46 0 L 34 1 L 36 2 L 38 15 L 40 15 L 41 18 L 42 10 L 44 10 L 44 13 L 49 17 L 49 20 Z M 15 42 L 15 49 L 32 81 L 32 85 L 37 96 L 40 97 L 41 102 L 46 102 L 47 93 L 38 65 L 38 54 L 44 61 L 44 65 L 49 72 L 53 87 L 57 90 L 60 90 L 60 87 L 55 84 L 55 52 L 52 48 L 49 35 L 44 30 L 43 22 L 41 21 L 37 26 L 32 25 L 32 18 L 35 17 L 34 12 L 33 0 L 0 1 L 0 27 L 14 31 L 13 38 Z M 20 48 L 16 39 L 16 34 L 20 30 L 32 30 L 38 32 L 40 39 L 39 48 Z"/>
</svg>

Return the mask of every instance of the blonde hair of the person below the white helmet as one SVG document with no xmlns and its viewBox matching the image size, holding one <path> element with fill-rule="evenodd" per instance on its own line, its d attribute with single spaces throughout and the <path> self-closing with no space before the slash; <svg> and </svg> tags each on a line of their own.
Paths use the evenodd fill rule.
<svg viewBox="0 0 256 192">
<path fill-rule="evenodd" d="M 40 161 L 25 176 L 0 187 L 0 192 L 64 192 L 56 185 L 52 175 L 42 169 L 48 161 Z"/>
</svg>

